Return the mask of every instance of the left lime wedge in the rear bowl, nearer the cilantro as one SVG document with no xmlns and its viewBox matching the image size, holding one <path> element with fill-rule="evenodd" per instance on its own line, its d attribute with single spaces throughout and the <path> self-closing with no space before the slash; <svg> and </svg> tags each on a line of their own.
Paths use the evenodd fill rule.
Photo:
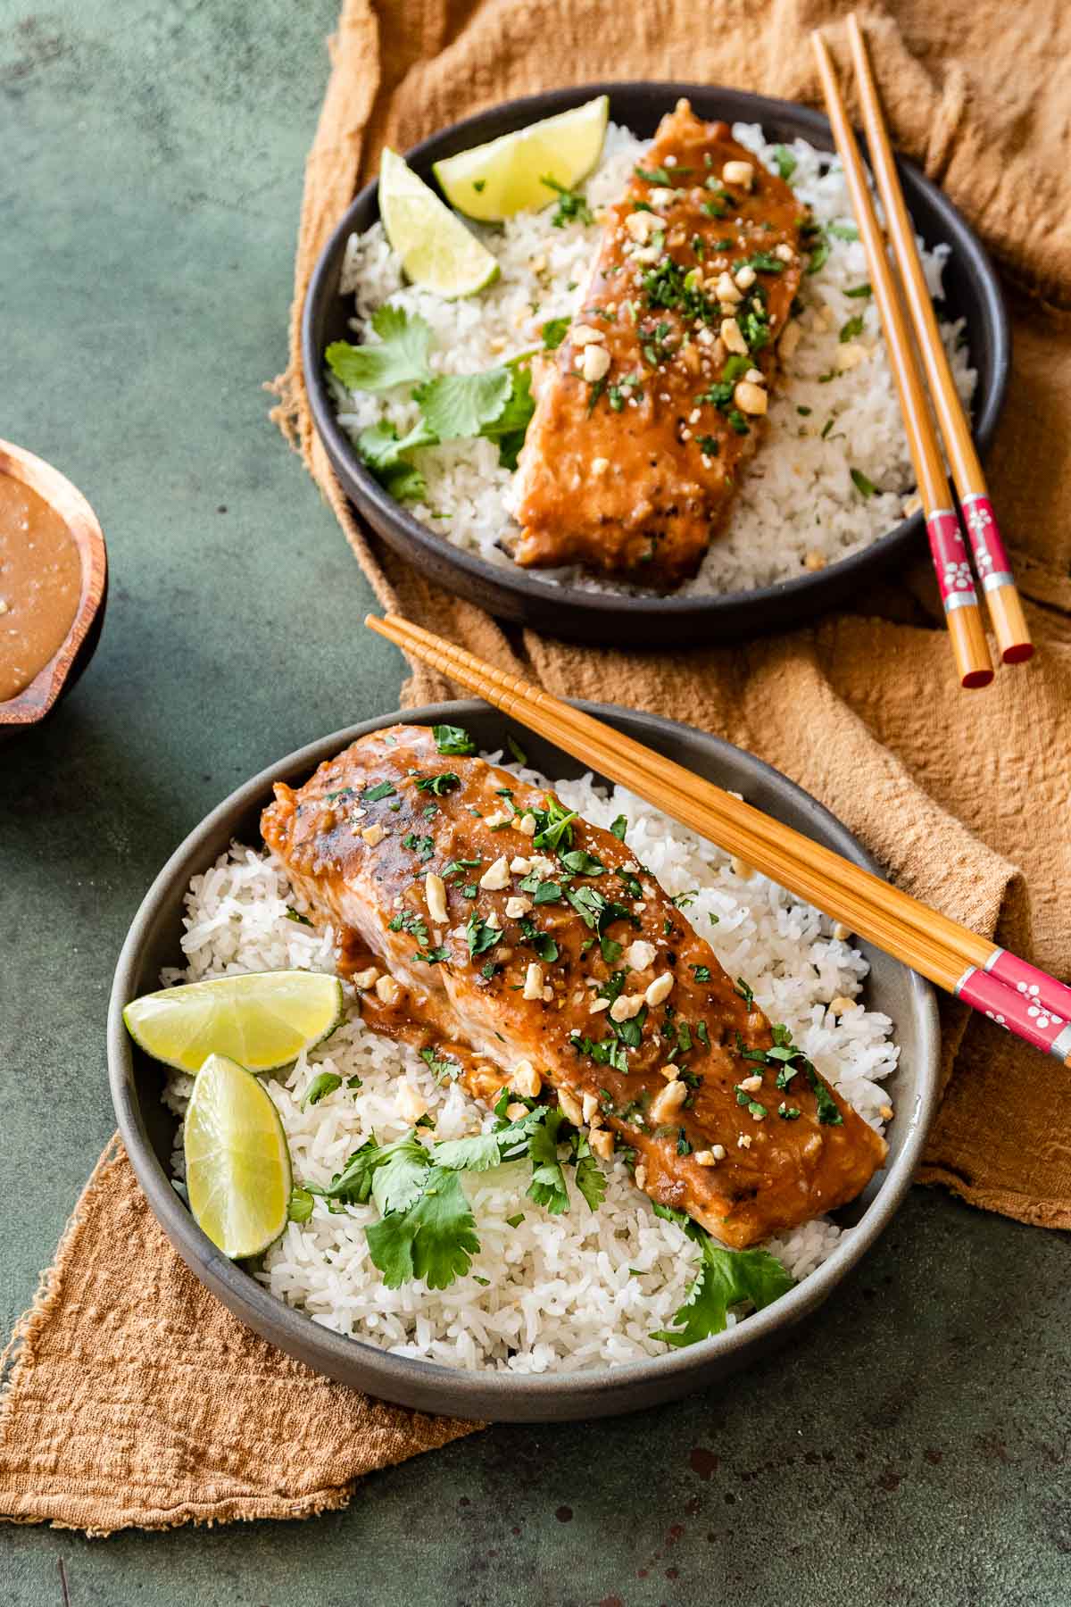
<svg viewBox="0 0 1071 1607">
<path fill-rule="evenodd" d="M 491 252 L 390 148 L 379 164 L 379 214 L 413 284 L 454 301 L 498 278 Z"/>
</svg>

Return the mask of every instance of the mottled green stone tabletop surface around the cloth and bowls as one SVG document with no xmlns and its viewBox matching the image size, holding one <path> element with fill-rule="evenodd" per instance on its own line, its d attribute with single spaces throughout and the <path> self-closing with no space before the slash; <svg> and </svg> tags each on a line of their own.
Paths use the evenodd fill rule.
<svg viewBox="0 0 1071 1607">
<path fill-rule="evenodd" d="M 5 1329 L 112 1130 L 108 988 L 154 871 L 244 776 L 398 702 L 262 389 L 332 22 L 332 0 L 0 0 L 0 434 L 82 487 L 111 553 L 85 680 L 0 749 Z M 0 1528 L 0 1602 L 1066 1607 L 1066 1250 L 915 1191 L 724 1390 L 491 1429 L 303 1523 Z"/>
</svg>

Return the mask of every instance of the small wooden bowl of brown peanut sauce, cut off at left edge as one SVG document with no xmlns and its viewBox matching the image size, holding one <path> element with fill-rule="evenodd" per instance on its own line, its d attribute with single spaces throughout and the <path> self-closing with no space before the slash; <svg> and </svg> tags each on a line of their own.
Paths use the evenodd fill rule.
<svg viewBox="0 0 1071 1607">
<path fill-rule="evenodd" d="M 0 738 L 37 725 L 75 683 L 106 591 L 104 537 L 85 497 L 0 440 Z"/>
</svg>

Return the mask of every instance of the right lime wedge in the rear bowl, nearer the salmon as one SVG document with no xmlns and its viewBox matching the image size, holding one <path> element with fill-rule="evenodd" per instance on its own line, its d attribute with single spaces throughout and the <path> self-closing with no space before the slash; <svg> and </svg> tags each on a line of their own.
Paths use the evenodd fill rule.
<svg viewBox="0 0 1071 1607">
<path fill-rule="evenodd" d="M 572 190 L 599 161 L 609 108 L 609 96 L 599 95 L 557 117 L 544 117 L 490 145 L 435 162 L 443 194 L 459 212 L 482 223 L 549 206 L 554 190 L 543 183 L 544 178 Z"/>
</svg>

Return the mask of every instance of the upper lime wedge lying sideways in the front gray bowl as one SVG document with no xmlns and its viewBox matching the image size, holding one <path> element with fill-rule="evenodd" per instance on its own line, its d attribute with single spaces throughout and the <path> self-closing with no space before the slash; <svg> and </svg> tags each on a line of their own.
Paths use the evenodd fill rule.
<svg viewBox="0 0 1071 1607">
<path fill-rule="evenodd" d="M 342 983 L 320 971 L 250 971 L 186 982 L 133 1000 L 127 1032 L 154 1061 L 198 1072 L 209 1054 L 230 1054 L 250 1072 L 275 1072 L 342 1020 Z"/>
</svg>

